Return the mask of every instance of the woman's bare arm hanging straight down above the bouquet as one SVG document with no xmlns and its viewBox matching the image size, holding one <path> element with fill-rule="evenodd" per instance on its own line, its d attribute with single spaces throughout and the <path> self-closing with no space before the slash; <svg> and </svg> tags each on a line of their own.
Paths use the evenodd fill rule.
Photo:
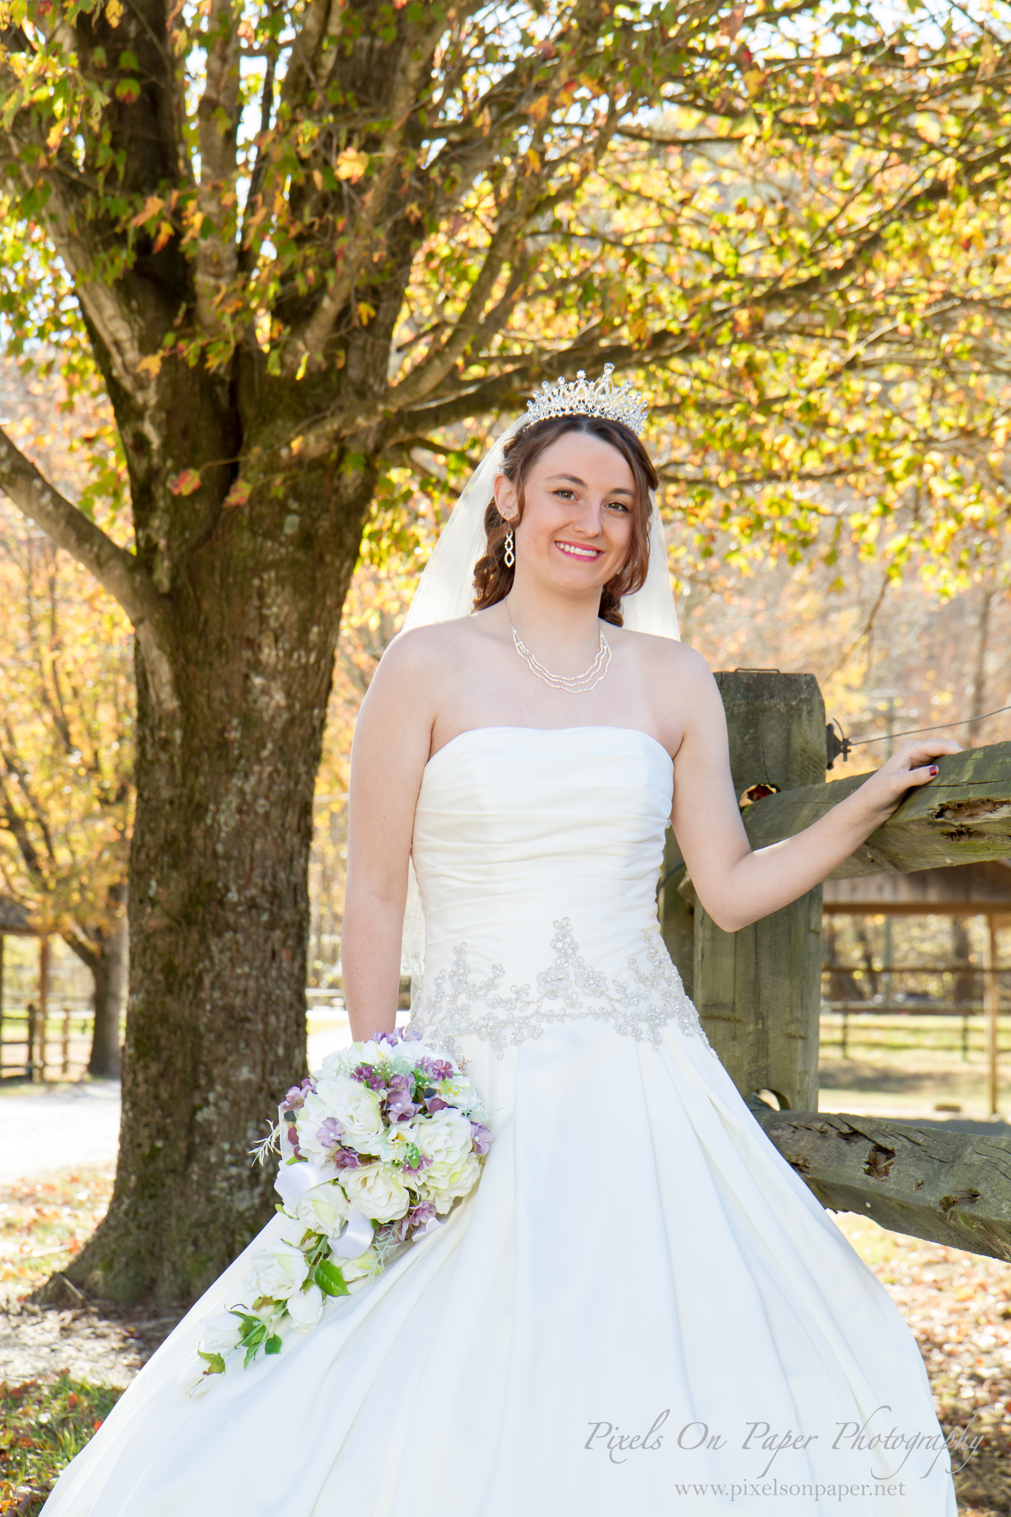
<svg viewBox="0 0 1011 1517">
<path fill-rule="evenodd" d="M 412 633 L 387 649 L 355 724 L 341 931 L 344 1000 L 355 1039 L 390 1032 L 397 1019 L 414 807 L 432 740 L 424 645 Z"/>
</svg>

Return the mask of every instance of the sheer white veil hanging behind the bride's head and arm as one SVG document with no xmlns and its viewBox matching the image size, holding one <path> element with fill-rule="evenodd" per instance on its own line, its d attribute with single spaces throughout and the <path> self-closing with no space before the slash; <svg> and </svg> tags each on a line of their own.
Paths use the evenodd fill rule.
<svg viewBox="0 0 1011 1517">
<path fill-rule="evenodd" d="M 485 510 L 494 496 L 496 475 L 502 473 L 503 448 L 529 420 L 529 416 L 518 416 L 488 449 L 467 481 L 464 493 L 432 549 L 432 557 L 421 570 L 402 631 L 409 633 L 415 627 L 430 627 L 432 622 L 449 622 L 471 613 L 474 564 L 485 554 Z M 678 639 L 681 634 L 667 564 L 667 539 L 656 496 L 652 492 L 650 508 L 646 584 L 641 590 L 623 598 L 621 616 L 624 625 L 634 633 Z M 423 971 L 424 913 L 414 863 L 411 863 L 400 972 L 411 975 L 414 991 Z"/>
</svg>

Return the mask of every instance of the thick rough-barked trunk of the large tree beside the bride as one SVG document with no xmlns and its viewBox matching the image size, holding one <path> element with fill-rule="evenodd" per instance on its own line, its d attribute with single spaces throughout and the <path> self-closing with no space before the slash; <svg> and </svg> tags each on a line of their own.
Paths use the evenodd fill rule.
<svg viewBox="0 0 1011 1517">
<path fill-rule="evenodd" d="M 305 1074 L 312 795 L 371 488 L 333 463 L 221 513 L 170 592 L 168 671 L 138 648 L 120 1161 L 65 1271 L 95 1296 L 192 1300 L 271 1214 L 249 1150 Z"/>
</svg>

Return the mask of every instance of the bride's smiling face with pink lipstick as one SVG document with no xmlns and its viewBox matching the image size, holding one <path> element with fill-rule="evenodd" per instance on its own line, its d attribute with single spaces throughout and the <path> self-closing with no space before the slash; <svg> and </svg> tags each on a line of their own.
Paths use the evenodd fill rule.
<svg viewBox="0 0 1011 1517">
<path fill-rule="evenodd" d="M 635 478 L 617 448 L 564 432 L 526 476 L 517 569 L 573 590 L 605 586 L 629 555 L 634 504 Z M 515 488 L 503 475 L 496 479 L 496 505 L 515 516 Z"/>
</svg>

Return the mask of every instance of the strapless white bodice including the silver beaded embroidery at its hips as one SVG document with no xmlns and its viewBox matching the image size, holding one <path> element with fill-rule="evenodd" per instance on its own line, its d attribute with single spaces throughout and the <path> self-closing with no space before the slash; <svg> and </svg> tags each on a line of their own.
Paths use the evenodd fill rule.
<svg viewBox="0 0 1011 1517">
<path fill-rule="evenodd" d="M 694 1030 L 656 921 L 671 784 L 670 754 L 635 728 L 482 727 L 441 748 L 414 819 L 414 1025 L 499 1048 L 571 1016 Z"/>
</svg>

